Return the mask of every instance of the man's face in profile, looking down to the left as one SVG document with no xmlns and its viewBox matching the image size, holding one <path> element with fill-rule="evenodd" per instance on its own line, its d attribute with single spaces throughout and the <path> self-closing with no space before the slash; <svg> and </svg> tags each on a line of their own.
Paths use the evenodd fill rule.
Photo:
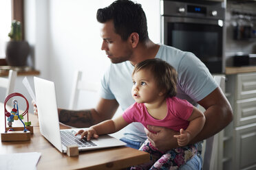
<svg viewBox="0 0 256 170">
<path fill-rule="evenodd" d="M 129 47 L 129 40 L 122 40 L 121 36 L 114 32 L 113 21 L 103 23 L 100 33 L 103 38 L 101 49 L 106 52 L 112 63 L 130 60 L 132 50 Z"/>
</svg>

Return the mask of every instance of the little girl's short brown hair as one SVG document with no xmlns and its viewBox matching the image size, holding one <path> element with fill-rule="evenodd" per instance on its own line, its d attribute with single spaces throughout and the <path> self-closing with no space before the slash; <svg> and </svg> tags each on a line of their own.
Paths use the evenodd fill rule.
<svg viewBox="0 0 256 170">
<path fill-rule="evenodd" d="M 132 75 L 142 69 L 149 71 L 149 74 L 153 75 L 158 87 L 161 90 L 165 90 L 166 97 L 176 95 L 178 73 L 173 66 L 159 58 L 149 59 L 136 64 Z"/>
</svg>

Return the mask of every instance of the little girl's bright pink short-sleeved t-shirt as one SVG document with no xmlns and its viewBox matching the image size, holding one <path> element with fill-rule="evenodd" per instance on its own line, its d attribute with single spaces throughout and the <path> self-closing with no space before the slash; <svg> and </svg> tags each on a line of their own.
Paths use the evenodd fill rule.
<svg viewBox="0 0 256 170">
<path fill-rule="evenodd" d="M 164 119 L 158 120 L 147 112 L 145 104 L 134 103 L 129 106 L 122 114 L 122 117 L 127 123 L 140 122 L 142 125 L 156 125 L 167 127 L 175 131 L 180 131 L 181 128 L 186 130 L 189 125 L 189 117 L 193 111 L 193 105 L 189 101 L 178 99 L 177 97 L 167 98 L 168 112 Z"/>
</svg>

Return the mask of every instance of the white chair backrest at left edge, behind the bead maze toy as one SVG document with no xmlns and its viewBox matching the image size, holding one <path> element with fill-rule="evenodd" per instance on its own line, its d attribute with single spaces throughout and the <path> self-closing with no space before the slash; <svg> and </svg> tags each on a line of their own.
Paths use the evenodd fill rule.
<svg viewBox="0 0 256 170">
<path fill-rule="evenodd" d="M 15 80 L 17 77 L 17 71 L 10 70 L 8 77 L 0 77 L 0 87 L 6 88 L 6 96 L 14 92 Z"/>
</svg>

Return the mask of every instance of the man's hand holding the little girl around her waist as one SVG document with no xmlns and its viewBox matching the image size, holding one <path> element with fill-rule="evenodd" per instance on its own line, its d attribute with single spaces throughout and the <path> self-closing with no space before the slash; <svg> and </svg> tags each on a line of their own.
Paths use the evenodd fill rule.
<svg viewBox="0 0 256 170">
<path fill-rule="evenodd" d="M 151 132 L 149 132 L 147 128 Z M 149 141 L 152 143 L 152 145 L 154 145 L 160 151 L 167 151 L 178 147 L 177 138 L 174 138 L 173 135 L 179 134 L 179 132 L 175 132 L 174 130 L 170 130 L 166 127 L 153 125 L 147 125 L 147 128 L 145 128 L 147 138 L 149 138 Z"/>
</svg>

